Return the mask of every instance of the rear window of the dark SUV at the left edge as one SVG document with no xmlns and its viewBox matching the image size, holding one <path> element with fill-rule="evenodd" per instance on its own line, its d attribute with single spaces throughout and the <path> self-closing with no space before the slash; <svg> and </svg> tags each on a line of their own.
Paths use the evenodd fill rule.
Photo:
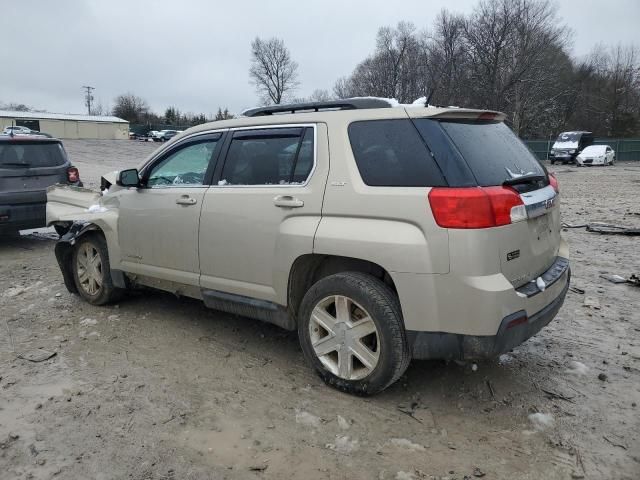
<svg viewBox="0 0 640 480">
<path fill-rule="evenodd" d="M 65 154 L 60 143 L 0 143 L 0 167 L 37 168 L 64 165 Z"/>
</svg>

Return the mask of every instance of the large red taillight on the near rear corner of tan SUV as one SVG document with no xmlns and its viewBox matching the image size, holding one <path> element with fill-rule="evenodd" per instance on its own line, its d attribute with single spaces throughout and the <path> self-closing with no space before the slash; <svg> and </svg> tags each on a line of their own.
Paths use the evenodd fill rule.
<svg viewBox="0 0 640 480">
<path fill-rule="evenodd" d="M 511 187 L 432 188 L 429 204 L 444 228 L 490 228 L 527 218 L 520 194 Z"/>
</svg>

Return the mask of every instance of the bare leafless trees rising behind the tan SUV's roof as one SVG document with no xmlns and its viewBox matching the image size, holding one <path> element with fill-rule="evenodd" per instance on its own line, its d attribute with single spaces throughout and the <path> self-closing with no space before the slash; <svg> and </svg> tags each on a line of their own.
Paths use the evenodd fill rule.
<svg viewBox="0 0 640 480">
<path fill-rule="evenodd" d="M 354 96 L 499 110 L 524 138 L 563 130 L 640 136 L 636 46 L 569 51 L 570 32 L 548 0 L 482 0 L 468 15 L 442 10 L 429 28 L 411 22 L 378 30 L 373 52 L 333 91 L 295 97 L 298 65 L 282 40 L 252 43 L 250 81 L 265 104 Z"/>
</svg>

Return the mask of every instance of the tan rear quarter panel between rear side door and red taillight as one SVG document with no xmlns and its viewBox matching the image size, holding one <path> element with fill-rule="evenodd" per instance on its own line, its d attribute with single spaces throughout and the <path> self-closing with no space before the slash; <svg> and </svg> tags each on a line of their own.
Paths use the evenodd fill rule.
<svg viewBox="0 0 640 480">
<path fill-rule="evenodd" d="M 448 233 L 431 215 L 429 188 L 370 187 L 360 177 L 349 124 L 407 118 L 404 109 L 380 110 L 350 111 L 329 124 L 331 164 L 314 253 L 368 260 L 389 272 L 447 273 Z"/>
</svg>

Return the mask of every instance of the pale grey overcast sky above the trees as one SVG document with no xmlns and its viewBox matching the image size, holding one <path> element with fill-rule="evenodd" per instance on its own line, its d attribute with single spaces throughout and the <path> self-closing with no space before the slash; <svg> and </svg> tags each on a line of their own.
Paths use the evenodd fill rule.
<svg viewBox="0 0 640 480">
<path fill-rule="evenodd" d="M 249 84 L 250 43 L 281 37 L 299 63 L 297 96 L 331 90 L 375 46 L 380 26 L 430 27 L 442 8 L 469 13 L 476 0 L 0 0 L 0 102 L 86 113 L 83 85 L 106 107 L 124 92 L 163 113 L 232 112 L 258 102 Z M 562 0 L 572 53 L 597 43 L 640 45 L 640 0 Z"/>
</svg>

